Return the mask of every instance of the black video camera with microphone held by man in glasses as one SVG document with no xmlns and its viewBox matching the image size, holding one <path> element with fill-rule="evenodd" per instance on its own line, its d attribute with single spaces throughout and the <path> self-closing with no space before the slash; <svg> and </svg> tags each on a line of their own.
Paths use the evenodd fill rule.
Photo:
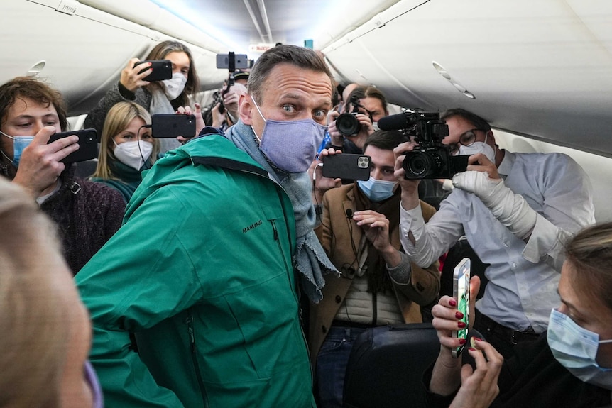
<svg viewBox="0 0 612 408">
<path fill-rule="evenodd" d="M 401 130 L 414 136 L 417 147 L 406 153 L 402 167 L 407 179 L 451 179 L 466 171 L 469 155 L 453 156 L 442 139 L 449 135 L 445 121 L 437 112 L 405 112 L 381 118 L 378 127 L 384 131 Z"/>
</svg>

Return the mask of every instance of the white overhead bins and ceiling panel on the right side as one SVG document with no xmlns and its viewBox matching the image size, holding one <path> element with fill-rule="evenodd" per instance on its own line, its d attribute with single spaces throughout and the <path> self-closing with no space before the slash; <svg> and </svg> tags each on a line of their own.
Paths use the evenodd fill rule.
<svg viewBox="0 0 612 408">
<path fill-rule="evenodd" d="M 611 51 L 603 0 L 404 0 L 323 50 L 343 82 L 374 84 L 396 104 L 463 107 L 497 128 L 608 156 Z"/>
</svg>

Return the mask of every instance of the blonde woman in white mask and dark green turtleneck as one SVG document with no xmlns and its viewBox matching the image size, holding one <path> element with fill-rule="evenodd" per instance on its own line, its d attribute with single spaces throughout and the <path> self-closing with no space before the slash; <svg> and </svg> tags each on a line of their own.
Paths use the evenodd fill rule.
<svg viewBox="0 0 612 408">
<path fill-rule="evenodd" d="M 119 190 L 129 202 L 141 184 L 141 171 L 151 168 L 160 151 L 150 126 L 151 115 L 135 102 L 113 106 L 104 121 L 98 164 L 90 180 Z"/>
</svg>

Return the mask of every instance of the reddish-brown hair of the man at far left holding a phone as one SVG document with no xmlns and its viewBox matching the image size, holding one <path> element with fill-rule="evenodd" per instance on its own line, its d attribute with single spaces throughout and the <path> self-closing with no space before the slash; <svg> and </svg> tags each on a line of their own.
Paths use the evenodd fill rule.
<svg viewBox="0 0 612 408">
<path fill-rule="evenodd" d="M 32 99 L 47 107 L 53 105 L 55 111 L 58 111 L 62 131 L 67 130 L 66 104 L 62 94 L 48 84 L 31 77 L 16 77 L 0 86 L 0 127 L 6 121 L 6 115 L 9 114 L 9 109 L 15 104 L 16 99 L 23 98 Z"/>
</svg>

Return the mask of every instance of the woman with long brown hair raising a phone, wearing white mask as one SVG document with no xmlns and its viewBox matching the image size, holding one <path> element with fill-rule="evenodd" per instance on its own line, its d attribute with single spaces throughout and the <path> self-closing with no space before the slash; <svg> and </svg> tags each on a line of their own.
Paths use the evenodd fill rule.
<svg viewBox="0 0 612 408">
<path fill-rule="evenodd" d="M 152 115 L 174 114 L 182 107 L 187 110 L 190 99 L 200 91 L 200 79 L 190 49 L 178 41 L 163 41 L 155 45 L 145 60 L 170 60 L 172 78 L 148 82 L 144 79 L 151 74 L 151 65 L 147 62 L 135 66 L 140 60 L 131 58 L 121 71 L 119 82 L 106 92 L 104 98 L 87 115 L 86 128 L 95 128 L 98 133 L 102 133 L 109 109 L 120 101 L 134 101 Z M 194 111 L 199 113 L 200 106 L 195 106 Z M 172 138 L 166 138 L 160 143 L 163 153 L 180 146 L 180 142 Z"/>
</svg>

